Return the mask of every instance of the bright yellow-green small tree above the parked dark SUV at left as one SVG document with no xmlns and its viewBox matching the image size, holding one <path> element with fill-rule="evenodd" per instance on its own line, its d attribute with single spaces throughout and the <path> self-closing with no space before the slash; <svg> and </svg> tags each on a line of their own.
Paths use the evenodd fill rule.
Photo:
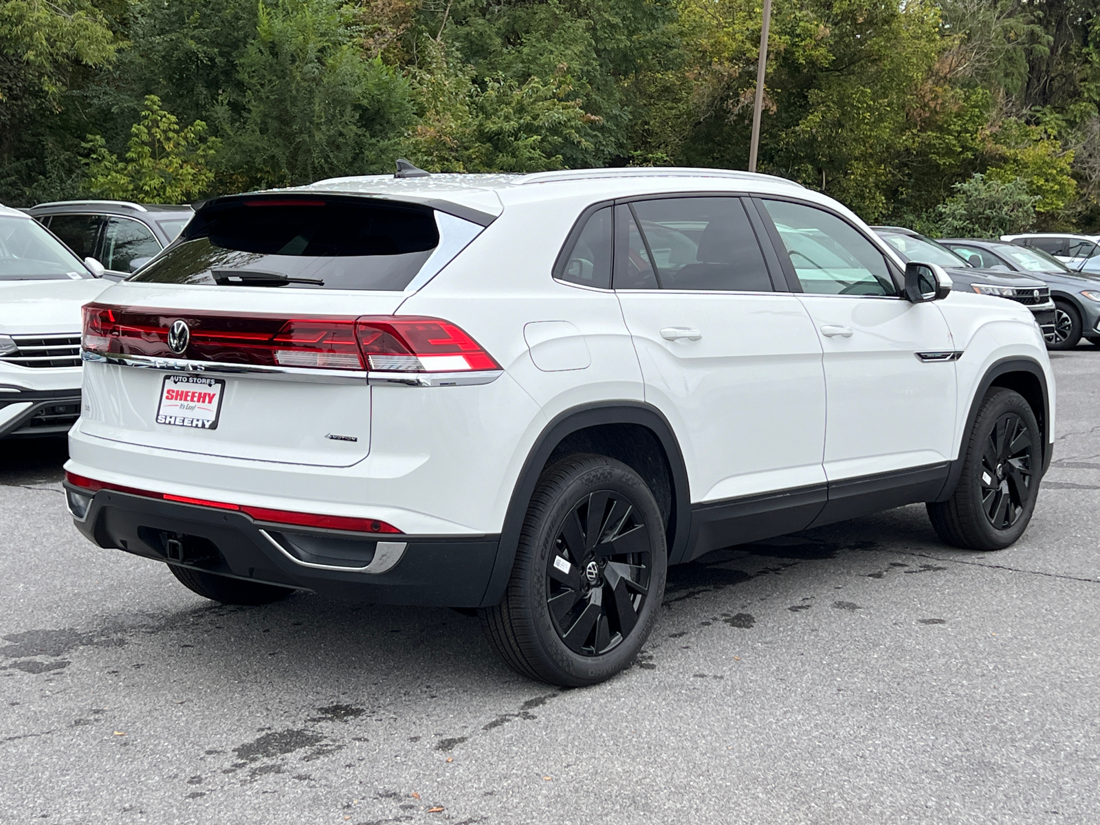
<svg viewBox="0 0 1100 825">
<path fill-rule="evenodd" d="M 108 151 L 100 135 L 88 135 L 89 191 L 107 198 L 146 204 L 180 204 L 207 193 L 213 182 L 209 162 L 217 139 L 204 136 L 206 123 L 197 120 L 186 129 L 161 108 L 155 95 L 145 98 L 141 120 L 130 130 L 125 160 Z"/>
</svg>

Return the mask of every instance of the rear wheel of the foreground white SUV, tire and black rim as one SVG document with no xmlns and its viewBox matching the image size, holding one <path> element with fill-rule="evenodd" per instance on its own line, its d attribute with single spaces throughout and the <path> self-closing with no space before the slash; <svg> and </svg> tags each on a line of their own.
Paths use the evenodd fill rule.
<svg viewBox="0 0 1100 825">
<path fill-rule="evenodd" d="M 504 598 L 480 610 L 482 628 L 521 675 L 596 684 L 645 645 L 667 570 L 664 522 L 641 477 L 614 459 L 572 455 L 539 479 Z"/>
</svg>

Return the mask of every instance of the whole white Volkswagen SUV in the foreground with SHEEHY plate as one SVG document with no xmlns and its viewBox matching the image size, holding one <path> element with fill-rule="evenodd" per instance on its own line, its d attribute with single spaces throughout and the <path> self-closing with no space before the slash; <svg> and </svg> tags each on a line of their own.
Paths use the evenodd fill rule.
<svg viewBox="0 0 1100 825">
<path fill-rule="evenodd" d="M 1027 526 L 1027 307 L 774 177 L 398 175 L 209 200 L 85 308 L 85 536 L 226 603 L 477 608 L 584 685 L 669 564 L 916 502 L 961 548 Z"/>
</svg>

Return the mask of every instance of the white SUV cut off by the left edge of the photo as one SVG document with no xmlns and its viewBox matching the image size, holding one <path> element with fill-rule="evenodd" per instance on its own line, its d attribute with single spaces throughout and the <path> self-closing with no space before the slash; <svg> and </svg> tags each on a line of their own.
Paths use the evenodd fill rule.
<svg viewBox="0 0 1100 825">
<path fill-rule="evenodd" d="M 0 439 L 61 437 L 79 417 L 80 306 L 109 284 L 0 206 Z"/>
</svg>

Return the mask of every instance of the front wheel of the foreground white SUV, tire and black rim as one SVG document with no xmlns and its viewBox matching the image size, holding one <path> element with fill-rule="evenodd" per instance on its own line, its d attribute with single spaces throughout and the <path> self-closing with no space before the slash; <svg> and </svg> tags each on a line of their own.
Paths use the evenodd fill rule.
<svg viewBox="0 0 1100 825">
<path fill-rule="evenodd" d="M 950 498 L 930 502 L 928 518 L 948 544 L 1002 550 L 1027 529 L 1038 496 L 1044 444 L 1035 414 L 1019 393 L 993 387 L 965 447 Z"/>
</svg>

